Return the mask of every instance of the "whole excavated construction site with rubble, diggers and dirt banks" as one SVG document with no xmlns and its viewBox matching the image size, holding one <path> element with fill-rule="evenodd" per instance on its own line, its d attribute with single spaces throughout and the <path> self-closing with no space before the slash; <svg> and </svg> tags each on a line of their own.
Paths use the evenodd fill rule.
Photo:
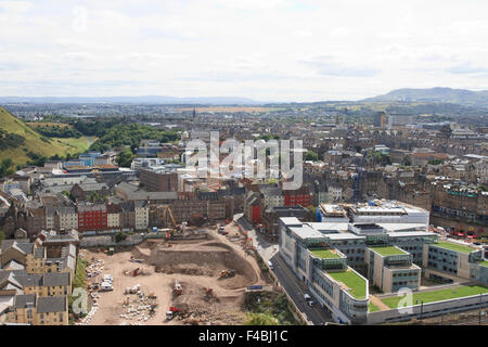
<svg viewBox="0 0 488 347">
<path fill-rule="evenodd" d="M 80 255 L 90 260 L 87 283 L 95 308 L 80 324 L 243 324 L 248 287 L 272 291 L 252 240 L 232 222 L 168 229 L 164 237 L 113 254 L 94 248 Z"/>
</svg>

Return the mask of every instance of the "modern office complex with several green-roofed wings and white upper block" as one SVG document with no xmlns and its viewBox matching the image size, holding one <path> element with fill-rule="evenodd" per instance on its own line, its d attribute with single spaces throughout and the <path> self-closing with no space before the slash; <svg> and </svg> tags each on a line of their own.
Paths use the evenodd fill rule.
<svg viewBox="0 0 488 347">
<path fill-rule="evenodd" d="M 488 285 L 488 260 L 483 259 L 483 250 L 439 241 L 436 233 L 427 231 L 428 213 L 425 219 L 422 209 L 408 206 L 371 207 L 377 208 L 344 207 L 349 220 L 337 206 L 321 206 L 321 222 L 279 219 L 280 256 L 336 321 L 369 321 L 370 286 L 385 294 L 402 288 L 416 292 L 422 277 Z M 446 307 L 462 310 L 464 301 Z M 391 312 L 382 314 L 388 320 L 402 319 Z M 375 317 L 375 322 L 380 320 Z"/>
</svg>

